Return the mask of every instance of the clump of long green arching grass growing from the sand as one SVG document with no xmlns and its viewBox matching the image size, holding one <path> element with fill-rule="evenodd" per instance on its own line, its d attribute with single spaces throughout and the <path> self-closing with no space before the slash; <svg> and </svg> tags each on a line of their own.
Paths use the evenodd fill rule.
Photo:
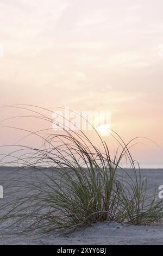
<svg viewBox="0 0 163 256">
<path fill-rule="evenodd" d="M 28 106 L 23 108 L 31 111 Z M 32 112 L 30 118 L 54 121 L 36 110 Z M 19 157 L 10 154 L 14 157 L 10 164 L 20 163 L 21 172 L 23 169 L 20 189 L 24 196 L 1 206 L 0 212 L 4 207 L 8 209 L 1 220 L 12 218 L 15 221 L 11 225 L 28 222 L 27 231 L 87 227 L 104 221 L 132 224 L 159 221 L 163 200 L 156 202 L 155 193 L 148 196 L 147 180 L 142 179 L 139 164 L 136 168 L 130 155 L 133 140 L 126 144 L 111 131 L 121 149 L 111 157 L 108 144 L 95 132 L 102 150 L 83 131 L 65 130 L 61 134 L 52 131 L 47 136 L 35 132 L 35 136 L 43 139 L 43 148 L 20 146 L 18 150 L 24 154 Z M 121 167 L 124 157 L 130 163 L 130 172 Z M 29 179 L 30 175 L 35 178 Z M 19 183 L 16 179 L 16 188 Z"/>
</svg>

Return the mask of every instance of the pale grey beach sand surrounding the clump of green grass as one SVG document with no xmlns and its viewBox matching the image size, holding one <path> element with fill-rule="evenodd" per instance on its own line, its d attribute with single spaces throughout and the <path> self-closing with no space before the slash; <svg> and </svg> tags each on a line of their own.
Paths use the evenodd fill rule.
<svg viewBox="0 0 163 256">
<path fill-rule="evenodd" d="M 4 198 L 0 204 L 20 196 L 21 191 L 12 194 L 12 186 L 4 181 L 4 177 L 18 177 L 21 170 L 0 168 L 0 185 L 4 187 Z M 24 172 L 24 170 L 23 170 Z M 163 169 L 144 169 L 142 176 L 148 180 L 148 187 L 163 185 Z M 28 178 L 30 175 L 28 175 Z M 23 176 L 26 179 L 26 175 Z M 33 179 L 31 177 L 31 179 Z M 22 177 L 20 178 L 20 184 Z M 8 185 L 7 185 L 8 184 Z M 12 185 L 12 184 L 11 184 Z M 19 184 L 17 184 L 18 186 Z M 149 192 L 152 193 L 152 192 Z M 159 193 L 159 190 L 158 190 Z M 1 214 L 1 212 L 0 212 Z M 84 230 L 77 230 L 69 234 L 51 232 L 48 235 L 10 235 L 10 221 L 1 223 L 0 245 L 163 245 L 163 225 L 127 225 L 119 223 L 95 223 Z M 5 230 L 2 230 L 6 228 Z M 17 230 L 19 227 L 17 227 Z"/>
</svg>

